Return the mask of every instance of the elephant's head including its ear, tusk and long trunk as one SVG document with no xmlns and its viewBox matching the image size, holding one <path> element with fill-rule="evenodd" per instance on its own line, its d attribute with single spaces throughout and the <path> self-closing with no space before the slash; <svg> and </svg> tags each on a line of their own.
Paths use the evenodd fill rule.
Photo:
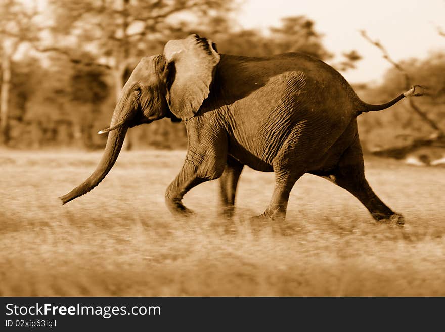
<svg viewBox="0 0 445 332">
<path fill-rule="evenodd" d="M 128 128 L 164 117 L 187 120 L 208 97 L 219 54 L 215 45 L 194 34 L 171 40 L 161 55 L 143 58 L 122 88 L 114 109 L 104 154 L 83 183 L 61 196 L 65 204 L 96 187 L 113 167 Z"/>
</svg>

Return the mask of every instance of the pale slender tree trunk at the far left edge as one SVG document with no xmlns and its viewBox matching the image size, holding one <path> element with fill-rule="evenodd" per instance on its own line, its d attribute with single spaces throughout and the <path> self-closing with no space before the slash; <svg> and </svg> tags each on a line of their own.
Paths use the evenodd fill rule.
<svg viewBox="0 0 445 332">
<path fill-rule="evenodd" d="M 8 52 L 2 55 L 2 87 L 0 90 L 0 144 L 9 142 L 9 90 L 11 84 L 11 59 Z"/>
</svg>

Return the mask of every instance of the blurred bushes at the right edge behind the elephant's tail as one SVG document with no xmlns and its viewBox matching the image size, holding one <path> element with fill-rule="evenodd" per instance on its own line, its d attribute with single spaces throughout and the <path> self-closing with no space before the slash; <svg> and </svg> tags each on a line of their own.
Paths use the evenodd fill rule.
<svg viewBox="0 0 445 332">
<path fill-rule="evenodd" d="M 394 105 L 388 112 L 359 117 L 364 146 L 374 153 L 397 158 L 403 158 L 421 146 L 445 146 L 441 134 L 445 129 L 445 80 L 442 77 L 445 53 L 434 52 L 424 60 L 408 59 L 398 64 L 411 82 L 428 87 L 428 94 L 414 101 L 422 115 L 407 100 Z M 366 101 L 383 103 L 406 89 L 404 75 L 393 67 L 386 72 L 380 85 L 368 86 L 358 93 Z"/>
</svg>

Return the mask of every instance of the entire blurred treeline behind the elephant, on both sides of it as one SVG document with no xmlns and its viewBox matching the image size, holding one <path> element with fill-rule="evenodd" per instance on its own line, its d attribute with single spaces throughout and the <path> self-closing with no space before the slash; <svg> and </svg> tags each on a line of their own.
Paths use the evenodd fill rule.
<svg viewBox="0 0 445 332">
<path fill-rule="evenodd" d="M 108 127 L 119 91 L 138 60 L 161 53 L 166 41 L 192 32 L 211 38 L 220 53 L 305 52 L 339 71 L 353 68 L 361 58 L 357 51 L 348 51 L 333 63 L 314 22 L 302 16 L 283 19 L 267 36 L 242 30 L 230 19 L 236 9 L 226 0 L 48 0 L 43 14 L 18 0 L 7 3 L 0 6 L 4 18 L 0 22 L 0 141 L 13 148 L 102 148 L 106 135 L 97 131 Z M 197 21 L 172 19 L 182 11 L 193 13 Z M 39 15 L 50 17 L 54 27 L 33 19 Z M 430 95 L 416 102 L 438 127 L 445 128 L 445 53 L 431 54 L 423 61 L 410 59 L 402 66 L 413 82 L 430 87 Z M 397 70 L 389 70 L 383 81 L 380 86 L 355 89 L 364 101 L 380 103 L 406 88 Z M 365 147 L 371 150 L 404 144 L 433 131 L 406 102 L 360 116 L 359 126 Z M 129 130 L 127 148 L 147 146 L 186 147 L 184 125 L 164 119 Z"/>
</svg>

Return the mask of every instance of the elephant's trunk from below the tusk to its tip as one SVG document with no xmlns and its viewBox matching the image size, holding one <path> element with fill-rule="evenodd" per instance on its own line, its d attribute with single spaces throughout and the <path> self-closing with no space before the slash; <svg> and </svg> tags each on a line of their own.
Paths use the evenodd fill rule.
<svg viewBox="0 0 445 332">
<path fill-rule="evenodd" d="M 109 132 L 104 154 L 96 170 L 82 184 L 72 189 L 68 194 L 59 197 L 62 200 L 62 205 L 91 191 L 105 178 L 116 162 L 127 130 L 128 127 L 122 125 Z"/>
</svg>

